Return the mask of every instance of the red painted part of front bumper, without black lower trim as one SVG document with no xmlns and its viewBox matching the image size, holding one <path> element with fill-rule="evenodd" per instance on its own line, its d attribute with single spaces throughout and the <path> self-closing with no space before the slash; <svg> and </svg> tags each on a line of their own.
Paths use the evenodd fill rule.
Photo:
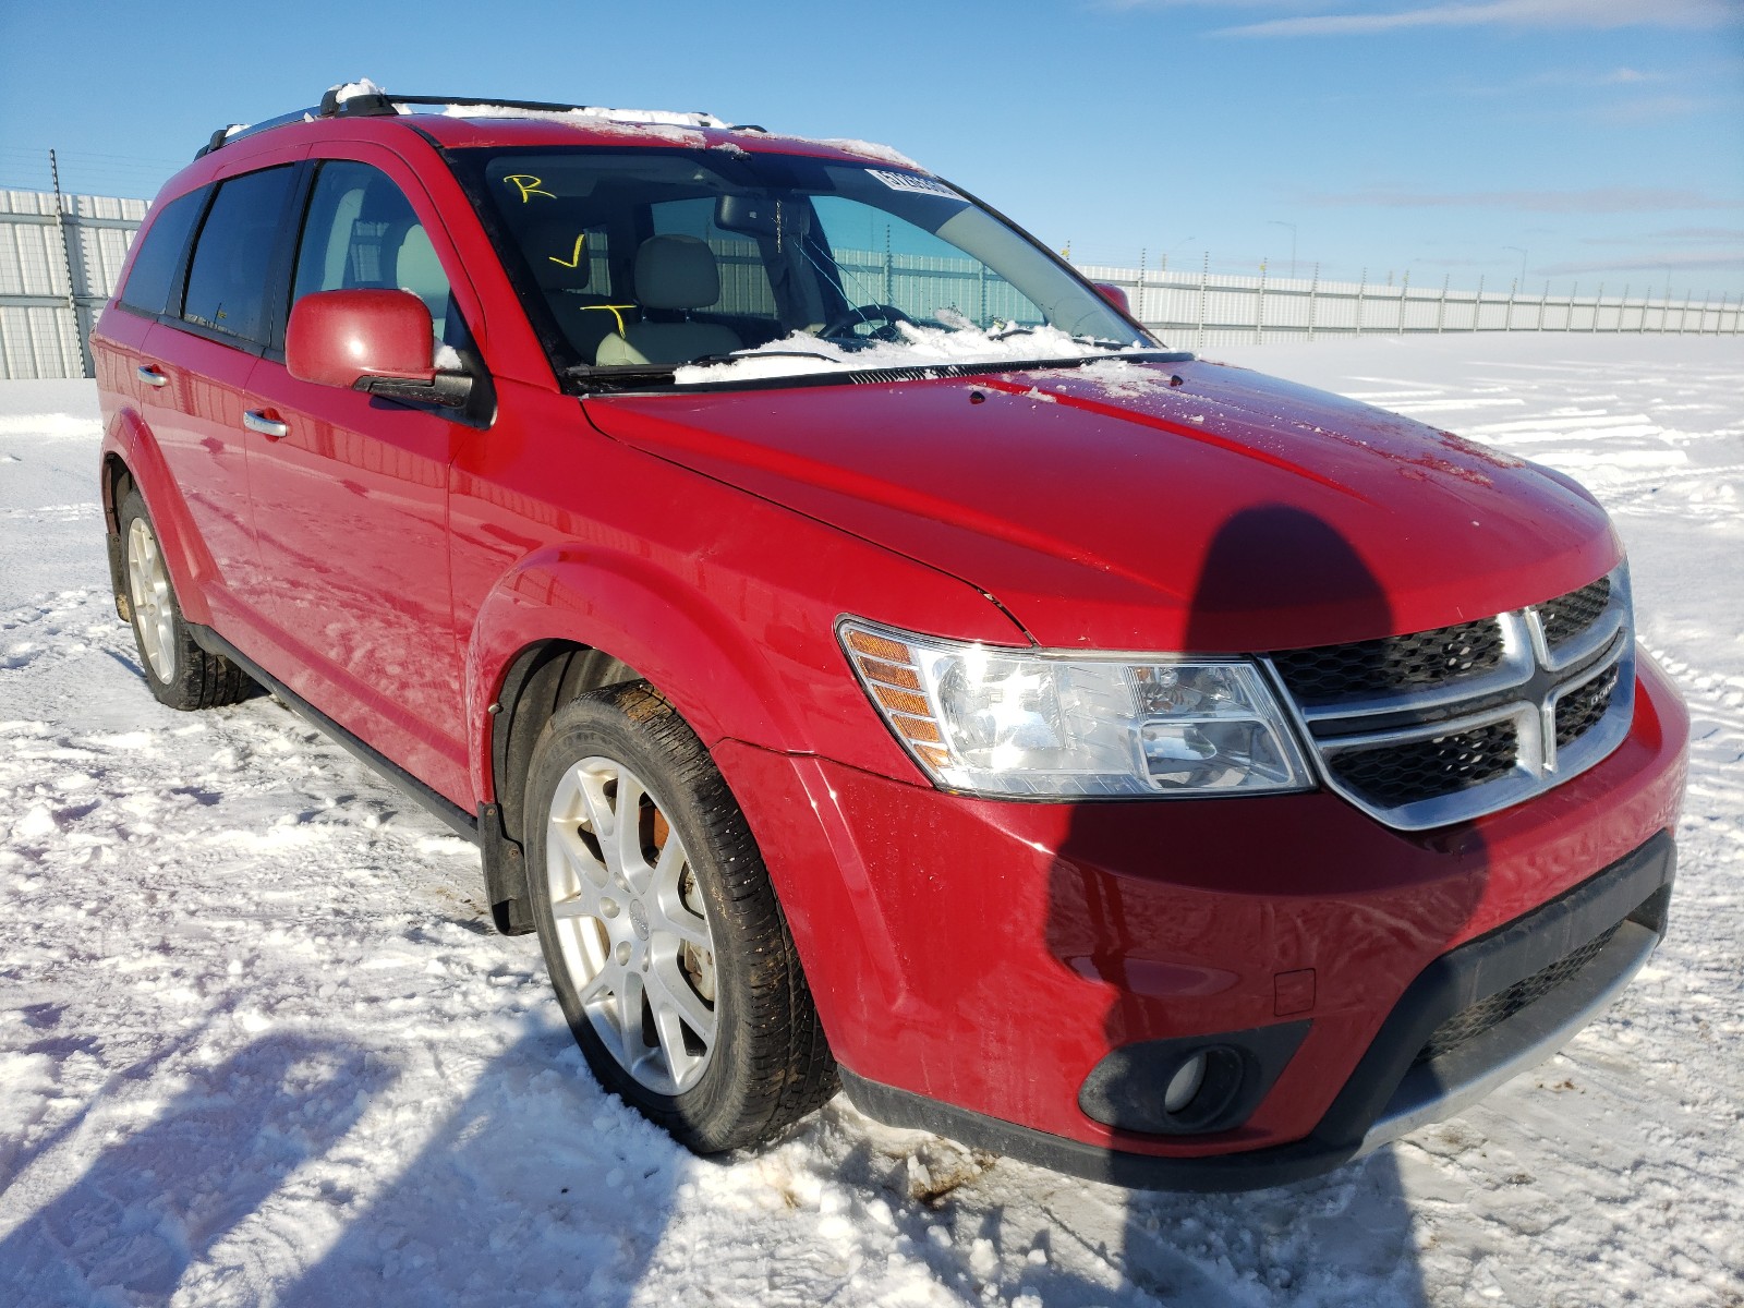
<svg viewBox="0 0 1744 1308">
<path fill-rule="evenodd" d="M 1646 659 L 1631 739 L 1481 821 L 1409 835 L 1331 795 L 1001 804 L 818 759 L 717 746 L 750 811 L 837 1057 L 1071 1139 L 1219 1153 L 1308 1134 L 1430 961 L 1669 827 L 1688 719 Z M 1078 1111 L 1109 1048 L 1275 1020 L 1313 968 L 1313 1029 L 1238 1132 L 1121 1135 Z"/>
</svg>

